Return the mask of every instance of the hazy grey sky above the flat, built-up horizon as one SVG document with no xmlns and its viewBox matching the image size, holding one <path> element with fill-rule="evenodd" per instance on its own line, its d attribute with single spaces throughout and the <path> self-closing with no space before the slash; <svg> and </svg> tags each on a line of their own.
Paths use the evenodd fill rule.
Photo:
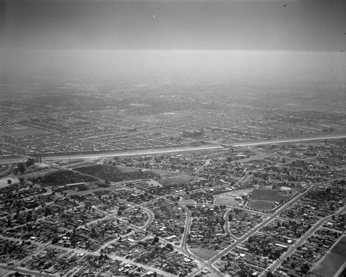
<svg viewBox="0 0 346 277">
<path fill-rule="evenodd" d="M 10 0 L 0 32 L 6 77 L 346 79 L 343 0 Z"/>
</svg>

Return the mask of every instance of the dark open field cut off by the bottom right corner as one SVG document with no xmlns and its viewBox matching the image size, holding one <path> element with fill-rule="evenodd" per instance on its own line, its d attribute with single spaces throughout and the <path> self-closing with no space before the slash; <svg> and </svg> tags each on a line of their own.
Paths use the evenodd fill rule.
<svg viewBox="0 0 346 277">
<path fill-rule="evenodd" d="M 323 276 L 333 277 L 346 262 L 346 236 L 343 236 L 331 251 L 318 262 L 311 271 Z"/>
</svg>

